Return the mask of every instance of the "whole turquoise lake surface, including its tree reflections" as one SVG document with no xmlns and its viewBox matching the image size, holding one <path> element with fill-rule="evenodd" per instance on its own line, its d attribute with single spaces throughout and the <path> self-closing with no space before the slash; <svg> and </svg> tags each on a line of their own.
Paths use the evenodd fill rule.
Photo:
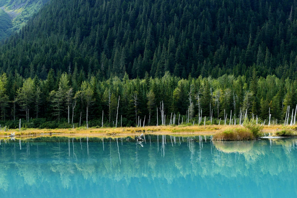
<svg viewBox="0 0 297 198">
<path fill-rule="evenodd" d="M 297 197 L 297 139 L 1 140 L 0 197 Z"/>
</svg>

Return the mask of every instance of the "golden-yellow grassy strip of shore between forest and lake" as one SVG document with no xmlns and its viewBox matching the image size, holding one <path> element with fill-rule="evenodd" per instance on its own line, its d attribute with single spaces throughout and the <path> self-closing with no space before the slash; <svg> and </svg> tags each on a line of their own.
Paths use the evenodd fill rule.
<svg viewBox="0 0 297 198">
<path fill-rule="evenodd" d="M 0 132 L 0 139 L 15 138 L 28 139 L 35 137 L 135 137 L 140 134 L 151 135 L 214 135 L 225 129 L 242 127 L 239 125 L 206 125 L 206 126 L 145 126 L 145 127 L 118 127 L 118 128 L 75 128 L 75 129 L 10 129 Z M 293 128 L 294 126 L 273 125 L 264 126 L 263 133 L 274 136 L 278 130 Z M 296 128 L 296 126 L 295 126 Z"/>
</svg>

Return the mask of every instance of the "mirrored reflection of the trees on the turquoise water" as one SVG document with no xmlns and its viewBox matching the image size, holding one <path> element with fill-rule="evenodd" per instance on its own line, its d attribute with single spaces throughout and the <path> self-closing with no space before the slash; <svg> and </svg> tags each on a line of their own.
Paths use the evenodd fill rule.
<svg viewBox="0 0 297 198">
<path fill-rule="evenodd" d="M 295 139 L 274 140 L 271 146 L 269 140 L 213 143 L 201 136 L 147 135 L 146 139 L 150 143 L 143 147 L 126 138 L 27 140 L 21 149 L 17 140 L 1 142 L 0 186 L 5 191 L 25 185 L 87 189 L 89 183 L 102 185 L 106 179 L 129 184 L 134 178 L 151 182 L 162 178 L 173 183 L 188 176 L 218 174 L 225 178 L 254 174 L 260 184 L 259 175 L 288 174 L 297 164 Z"/>
</svg>

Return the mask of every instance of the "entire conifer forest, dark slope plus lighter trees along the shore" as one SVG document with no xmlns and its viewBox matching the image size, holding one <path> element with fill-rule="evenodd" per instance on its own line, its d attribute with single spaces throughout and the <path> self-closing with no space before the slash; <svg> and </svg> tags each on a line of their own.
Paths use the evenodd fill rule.
<svg viewBox="0 0 297 198">
<path fill-rule="evenodd" d="M 297 1 L 50 0 L 0 46 L 1 120 L 276 123 L 295 113 L 296 71 Z"/>
</svg>

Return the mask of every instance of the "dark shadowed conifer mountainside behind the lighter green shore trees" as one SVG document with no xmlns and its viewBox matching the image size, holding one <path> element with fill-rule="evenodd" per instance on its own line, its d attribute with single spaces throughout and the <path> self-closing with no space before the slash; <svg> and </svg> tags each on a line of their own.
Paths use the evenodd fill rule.
<svg viewBox="0 0 297 198">
<path fill-rule="evenodd" d="M 51 0 L 0 48 L 2 72 L 296 78 L 297 1 Z"/>
</svg>

